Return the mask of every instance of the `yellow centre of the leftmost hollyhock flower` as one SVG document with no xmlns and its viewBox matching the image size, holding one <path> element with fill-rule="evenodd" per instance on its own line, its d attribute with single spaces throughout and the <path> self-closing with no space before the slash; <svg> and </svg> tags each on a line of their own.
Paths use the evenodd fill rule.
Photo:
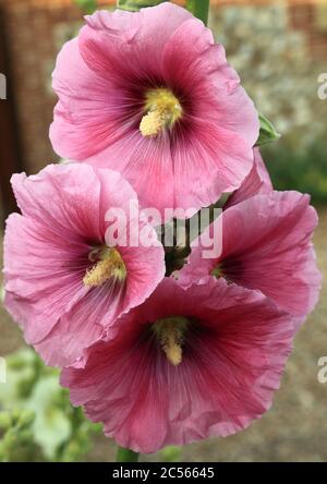
<svg viewBox="0 0 327 484">
<path fill-rule="evenodd" d="M 119 281 L 126 278 L 126 268 L 117 249 L 107 245 L 95 249 L 88 254 L 88 258 L 95 264 L 86 270 L 84 286 L 99 287 L 111 278 Z"/>
</svg>

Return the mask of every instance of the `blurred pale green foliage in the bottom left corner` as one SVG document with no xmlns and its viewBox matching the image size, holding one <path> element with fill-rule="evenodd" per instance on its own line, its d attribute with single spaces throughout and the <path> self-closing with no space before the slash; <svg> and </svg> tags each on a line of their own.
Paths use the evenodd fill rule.
<svg viewBox="0 0 327 484">
<path fill-rule="evenodd" d="M 71 406 L 59 372 L 32 349 L 7 358 L 0 387 L 0 461 L 77 461 L 101 426 Z"/>
</svg>

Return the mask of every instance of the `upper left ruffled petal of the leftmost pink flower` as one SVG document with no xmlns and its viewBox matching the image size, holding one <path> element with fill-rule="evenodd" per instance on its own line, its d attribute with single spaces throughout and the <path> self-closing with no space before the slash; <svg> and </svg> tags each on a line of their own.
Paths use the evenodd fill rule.
<svg viewBox="0 0 327 484">
<path fill-rule="evenodd" d="M 12 186 L 23 216 L 43 226 L 59 243 L 102 238 L 100 183 L 92 167 L 49 165 L 28 178 L 14 174 Z"/>
</svg>

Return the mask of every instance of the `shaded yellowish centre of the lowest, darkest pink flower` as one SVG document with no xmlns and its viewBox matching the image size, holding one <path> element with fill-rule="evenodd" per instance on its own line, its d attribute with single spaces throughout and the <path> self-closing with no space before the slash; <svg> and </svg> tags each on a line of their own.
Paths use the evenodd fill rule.
<svg viewBox="0 0 327 484">
<path fill-rule="evenodd" d="M 168 361 L 178 366 L 183 360 L 183 343 L 189 325 L 183 316 L 165 317 L 156 320 L 154 330 Z"/>
</svg>

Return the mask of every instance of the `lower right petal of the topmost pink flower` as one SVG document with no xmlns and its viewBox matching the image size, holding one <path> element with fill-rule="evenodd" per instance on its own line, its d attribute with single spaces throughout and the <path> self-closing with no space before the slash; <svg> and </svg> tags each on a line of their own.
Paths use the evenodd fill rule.
<svg viewBox="0 0 327 484">
<path fill-rule="evenodd" d="M 198 120 L 192 136 L 175 143 L 172 159 L 173 206 L 195 213 L 240 186 L 253 166 L 253 150 L 238 133 Z"/>
</svg>

